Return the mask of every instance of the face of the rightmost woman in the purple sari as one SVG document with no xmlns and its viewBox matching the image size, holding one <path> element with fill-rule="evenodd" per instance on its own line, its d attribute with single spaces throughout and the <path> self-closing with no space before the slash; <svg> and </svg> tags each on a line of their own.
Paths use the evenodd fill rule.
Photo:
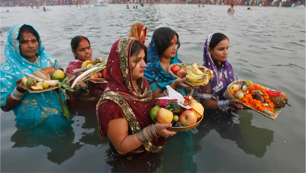
<svg viewBox="0 0 306 173">
<path fill-rule="evenodd" d="M 220 41 L 214 49 L 208 47 L 208 51 L 211 54 L 211 58 L 213 58 L 216 62 L 218 62 L 219 66 L 221 66 L 221 62 L 226 61 L 227 55 L 229 53 L 229 40 L 224 39 Z"/>
</svg>

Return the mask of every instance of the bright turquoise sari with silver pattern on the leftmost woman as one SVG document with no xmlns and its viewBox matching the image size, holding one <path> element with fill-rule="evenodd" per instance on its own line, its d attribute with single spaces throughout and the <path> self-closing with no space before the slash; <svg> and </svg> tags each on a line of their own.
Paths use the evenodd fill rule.
<svg viewBox="0 0 306 173">
<path fill-rule="evenodd" d="M 6 62 L 1 65 L 1 106 L 6 105 L 6 98 L 16 87 L 16 81 L 26 76 L 22 72 L 33 74 L 34 71 L 39 71 L 48 66 L 59 69 L 57 61 L 44 51 L 40 39 L 35 62 L 31 63 L 21 56 L 17 37 L 23 25 L 16 24 L 9 28 L 7 32 L 7 43 L 4 49 Z M 62 98 L 64 98 L 63 95 Z M 13 112 L 15 113 L 17 126 L 25 128 L 44 123 L 50 125 L 54 130 L 58 130 L 69 124 L 69 121 L 63 116 L 59 96 L 55 90 L 41 93 L 27 92 L 18 106 L 13 109 Z"/>
</svg>

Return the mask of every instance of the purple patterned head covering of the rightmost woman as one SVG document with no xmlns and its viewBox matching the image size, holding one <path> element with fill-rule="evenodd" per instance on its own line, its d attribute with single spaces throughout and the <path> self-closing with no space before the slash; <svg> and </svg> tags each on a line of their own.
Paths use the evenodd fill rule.
<svg viewBox="0 0 306 173">
<path fill-rule="evenodd" d="M 227 62 L 227 59 L 221 63 L 220 70 L 218 70 L 213 59 L 211 58 L 208 47 L 214 34 L 215 33 L 211 33 L 209 36 L 207 36 L 206 42 L 204 44 L 203 66 L 214 71 L 214 78 L 210 81 L 211 97 L 215 100 L 219 100 L 219 97 L 222 96 L 227 85 L 234 81 L 234 72 L 232 65 Z"/>
</svg>

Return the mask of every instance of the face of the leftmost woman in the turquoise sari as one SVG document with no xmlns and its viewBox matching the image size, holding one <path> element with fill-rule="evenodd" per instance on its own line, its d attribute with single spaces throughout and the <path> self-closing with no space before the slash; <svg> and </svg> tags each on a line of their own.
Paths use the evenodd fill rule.
<svg viewBox="0 0 306 173">
<path fill-rule="evenodd" d="M 35 57 L 38 46 L 38 40 L 32 33 L 22 33 L 22 37 L 19 39 L 19 49 L 21 56 L 26 59 Z"/>
</svg>

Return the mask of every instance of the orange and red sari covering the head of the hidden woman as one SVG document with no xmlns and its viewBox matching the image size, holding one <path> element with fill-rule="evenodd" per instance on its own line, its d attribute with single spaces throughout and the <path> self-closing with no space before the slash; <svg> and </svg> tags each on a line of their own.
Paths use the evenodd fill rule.
<svg viewBox="0 0 306 173">
<path fill-rule="evenodd" d="M 144 42 L 146 41 L 146 36 L 147 36 L 147 27 L 145 27 L 143 24 L 138 22 L 132 24 L 129 33 L 129 38 L 138 39 L 144 44 Z"/>
</svg>

